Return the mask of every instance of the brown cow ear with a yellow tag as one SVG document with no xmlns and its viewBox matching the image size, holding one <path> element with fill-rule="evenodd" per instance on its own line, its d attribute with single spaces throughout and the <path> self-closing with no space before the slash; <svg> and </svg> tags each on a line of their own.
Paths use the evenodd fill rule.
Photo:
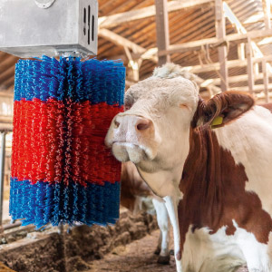
<svg viewBox="0 0 272 272">
<path fill-rule="evenodd" d="M 254 103 L 247 92 L 221 92 L 208 102 L 200 103 L 197 125 L 209 125 L 212 129 L 222 127 L 248 112 Z"/>
</svg>

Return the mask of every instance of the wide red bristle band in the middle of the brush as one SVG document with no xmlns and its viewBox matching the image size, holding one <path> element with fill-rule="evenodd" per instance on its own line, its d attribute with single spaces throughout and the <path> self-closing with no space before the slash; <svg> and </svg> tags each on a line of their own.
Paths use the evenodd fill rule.
<svg viewBox="0 0 272 272">
<path fill-rule="evenodd" d="M 12 177 L 51 183 L 104 184 L 120 180 L 104 138 L 122 109 L 105 102 L 15 102 Z"/>
</svg>

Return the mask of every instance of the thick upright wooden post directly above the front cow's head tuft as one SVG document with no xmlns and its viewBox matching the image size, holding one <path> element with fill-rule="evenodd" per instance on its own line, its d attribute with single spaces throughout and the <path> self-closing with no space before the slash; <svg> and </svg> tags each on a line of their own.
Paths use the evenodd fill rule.
<svg viewBox="0 0 272 272">
<path fill-rule="evenodd" d="M 158 53 L 160 53 L 160 51 L 168 50 L 170 44 L 167 0 L 155 0 L 155 4 L 157 47 Z M 159 56 L 159 65 L 169 62 L 170 54 Z"/>
</svg>

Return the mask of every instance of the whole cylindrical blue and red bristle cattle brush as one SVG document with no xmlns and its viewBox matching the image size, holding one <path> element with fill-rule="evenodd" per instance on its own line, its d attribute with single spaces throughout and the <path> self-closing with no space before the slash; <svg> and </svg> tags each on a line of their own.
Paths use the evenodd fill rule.
<svg viewBox="0 0 272 272">
<path fill-rule="evenodd" d="M 23 225 L 92 225 L 119 218 L 121 164 L 104 147 L 122 111 L 116 61 L 19 60 L 15 66 L 10 215 Z"/>
</svg>

